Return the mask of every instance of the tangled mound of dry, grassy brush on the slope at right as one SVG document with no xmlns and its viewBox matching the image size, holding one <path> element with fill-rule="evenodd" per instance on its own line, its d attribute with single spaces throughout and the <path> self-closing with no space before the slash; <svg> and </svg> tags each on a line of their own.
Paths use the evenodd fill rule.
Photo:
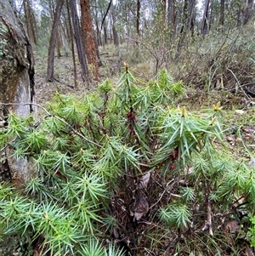
<svg viewBox="0 0 255 256">
<path fill-rule="evenodd" d="M 194 37 L 194 43 L 182 48 L 169 69 L 178 79 L 208 92 L 227 90 L 254 97 L 253 25 L 225 32 L 211 31 L 206 37 Z"/>
</svg>

